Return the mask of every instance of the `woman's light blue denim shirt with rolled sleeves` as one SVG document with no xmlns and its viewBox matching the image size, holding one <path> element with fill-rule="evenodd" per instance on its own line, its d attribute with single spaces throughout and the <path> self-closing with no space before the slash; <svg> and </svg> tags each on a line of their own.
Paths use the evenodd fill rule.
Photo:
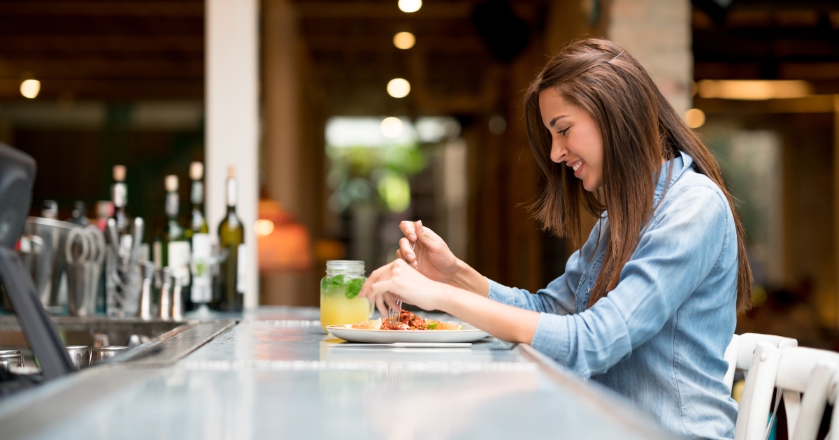
<svg viewBox="0 0 839 440">
<path fill-rule="evenodd" d="M 737 232 L 717 184 L 685 153 L 671 162 L 669 188 L 670 162 L 618 286 L 594 306 L 586 308 L 607 247 L 605 213 L 548 287 L 530 294 L 490 281 L 489 298 L 541 312 L 534 349 L 627 396 L 664 427 L 733 438 L 737 402 L 722 378 L 737 323 Z"/>
</svg>

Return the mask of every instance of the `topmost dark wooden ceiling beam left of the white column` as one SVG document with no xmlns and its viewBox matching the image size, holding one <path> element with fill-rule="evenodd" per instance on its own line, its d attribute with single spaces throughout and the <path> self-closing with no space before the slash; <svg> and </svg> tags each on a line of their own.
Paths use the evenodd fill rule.
<svg viewBox="0 0 839 440">
<path fill-rule="evenodd" d="M 3 15 L 203 17 L 204 2 L 3 2 Z"/>
</svg>

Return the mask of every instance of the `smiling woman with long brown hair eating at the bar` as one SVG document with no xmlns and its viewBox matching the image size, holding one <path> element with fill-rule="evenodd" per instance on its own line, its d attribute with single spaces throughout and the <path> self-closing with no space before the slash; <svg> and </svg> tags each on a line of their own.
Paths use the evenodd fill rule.
<svg viewBox="0 0 839 440">
<path fill-rule="evenodd" d="M 752 275 L 716 161 L 638 61 L 604 39 L 556 54 L 524 104 L 546 180 L 536 217 L 575 239 L 581 207 L 599 217 L 565 274 L 533 295 L 504 287 L 403 222 L 399 259 L 361 296 L 382 313 L 399 299 L 531 344 L 674 432 L 732 438 L 723 354 Z"/>
</svg>

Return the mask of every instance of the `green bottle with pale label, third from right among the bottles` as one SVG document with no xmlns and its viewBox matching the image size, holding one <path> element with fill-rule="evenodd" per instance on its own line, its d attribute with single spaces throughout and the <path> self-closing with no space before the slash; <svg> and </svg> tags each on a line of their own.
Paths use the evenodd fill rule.
<svg viewBox="0 0 839 440">
<path fill-rule="evenodd" d="M 169 267 L 172 277 L 180 280 L 181 292 L 188 291 L 190 284 L 190 241 L 184 235 L 180 225 L 178 210 L 178 176 L 166 176 L 166 225 L 161 241 L 161 260 L 163 267 Z"/>
</svg>

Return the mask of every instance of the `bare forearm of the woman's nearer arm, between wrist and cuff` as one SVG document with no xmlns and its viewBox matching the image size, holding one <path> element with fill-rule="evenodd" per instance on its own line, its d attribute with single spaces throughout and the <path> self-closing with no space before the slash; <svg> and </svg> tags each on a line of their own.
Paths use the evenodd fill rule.
<svg viewBox="0 0 839 440">
<path fill-rule="evenodd" d="M 483 277 L 482 277 L 483 278 Z M 486 279 L 484 278 L 486 282 Z M 482 329 L 498 339 L 530 344 L 539 324 L 539 313 L 466 294 L 446 287 L 438 309 Z"/>
</svg>

